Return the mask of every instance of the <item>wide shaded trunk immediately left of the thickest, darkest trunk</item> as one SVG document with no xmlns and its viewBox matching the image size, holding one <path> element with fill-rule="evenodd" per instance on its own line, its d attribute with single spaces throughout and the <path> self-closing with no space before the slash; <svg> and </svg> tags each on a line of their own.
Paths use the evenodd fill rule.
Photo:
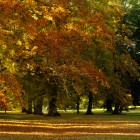
<svg viewBox="0 0 140 140">
<path fill-rule="evenodd" d="M 42 106 L 43 106 L 43 97 L 41 96 L 41 97 L 38 97 L 35 101 L 35 105 L 34 105 L 35 115 L 43 115 Z"/>
</svg>

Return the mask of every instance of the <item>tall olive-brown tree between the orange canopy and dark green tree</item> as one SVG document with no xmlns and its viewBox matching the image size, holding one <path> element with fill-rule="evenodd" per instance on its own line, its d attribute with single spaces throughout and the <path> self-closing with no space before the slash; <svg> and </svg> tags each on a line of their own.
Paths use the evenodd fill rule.
<svg viewBox="0 0 140 140">
<path fill-rule="evenodd" d="M 123 4 L 128 6 L 124 1 Z M 124 5 L 122 5 L 122 13 L 118 20 L 114 21 L 116 23 L 114 26 L 116 34 L 116 51 L 112 54 L 110 53 L 110 58 L 112 60 L 110 61 L 111 69 L 108 71 L 110 72 L 110 74 L 108 74 L 110 79 L 110 89 L 107 89 L 105 98 L 105 106 L 108 111 L 111 111 L 112 106 L 115 106 L 114 114 L 119 113 L 119 108 L 121 108 L 121 106 L 127 107 L 131 104 L 131 100 L 128 95 L 131 88 L 130 84 L 138 76 L 137 64 L 128 53 L 128 47 L 132 47 L 133 40 L 130 39 L 130 36 L 133 33 L 124 23 L 124 17 L 127 13 L 127 10 L 123 7 Z M 104 64 L 104 62 L 102 64 Z"/>
</svg>

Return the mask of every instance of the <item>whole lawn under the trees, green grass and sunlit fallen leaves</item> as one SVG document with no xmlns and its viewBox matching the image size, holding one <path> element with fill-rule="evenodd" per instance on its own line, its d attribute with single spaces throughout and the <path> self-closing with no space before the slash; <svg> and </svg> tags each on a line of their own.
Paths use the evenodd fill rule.
<svg viewBox="0 0 140 140">
<path fill-rule="evenodd" d="M 61 112 L 60 117 L 0 112 L 0 140 L 139 140 L 140 110 L 111 115 Z"/>
</svg>

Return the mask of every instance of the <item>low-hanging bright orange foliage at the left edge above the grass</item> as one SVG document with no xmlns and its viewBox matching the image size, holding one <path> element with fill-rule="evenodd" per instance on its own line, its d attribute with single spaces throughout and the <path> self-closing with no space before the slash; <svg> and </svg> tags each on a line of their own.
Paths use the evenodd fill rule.
<svg viewBox="0 0 140 140">
<path fill-rule="evenodd" d="M 8 72 L 0 73 L 0 104 L 4 109 L 7 109 L 9 100 L 22 104 L 21 92 L 22 87 L 17 80 L 17 77 Z M 6 108 L 5 108 L 6 107 Z"/>
</svg>

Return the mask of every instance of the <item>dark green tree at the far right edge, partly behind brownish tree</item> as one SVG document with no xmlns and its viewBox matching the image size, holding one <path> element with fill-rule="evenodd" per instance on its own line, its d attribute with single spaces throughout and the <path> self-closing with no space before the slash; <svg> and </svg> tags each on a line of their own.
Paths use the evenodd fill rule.
<svg viewBox="0 0 140 140">
<path fill-rule="evenodd" d="M 131 55 L 131 57 L 138 63 L 138 67 L 140 64 L 139 61 L 139 16 L 140 16 L 140 3 L 138 0 L 126 0 L 125 1 L 125 11 L 126 14 L 123 17 L 123 24 L 127 26 L 129 30 L 131 30 L 131 34 L 126 34 L 127 38 L 131 40 L 130 43 L 127 43 L 127 52 Z M 139 104 L 139 76 L 131 82 L 131 93 L 133 96 L 133 104 Z M 137 103 L 136 103 L 137 102 Z"/>
</svg>

